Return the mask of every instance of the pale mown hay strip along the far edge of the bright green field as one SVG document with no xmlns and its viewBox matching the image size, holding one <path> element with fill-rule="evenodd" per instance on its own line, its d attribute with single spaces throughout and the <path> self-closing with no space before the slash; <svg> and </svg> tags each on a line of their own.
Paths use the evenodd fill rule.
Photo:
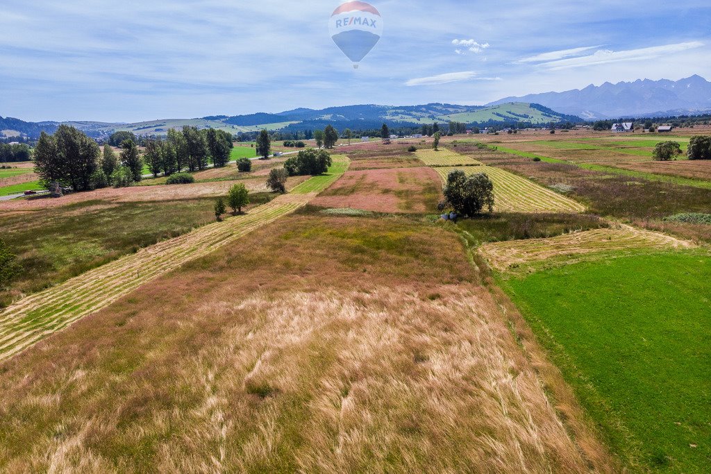
<svg viewBox="0 0 711 474">
<path fill-rule="evenodd" d="M 693 243 L 659 232 L 640 230 L 629 225 L 588 230 L 549 239 L 510 240 L 483 244 L 479 252 L 498 271 L 542 262 L 554 257 L 576 256 L 594 252 L 634 249 L 680 249 Z"/>
</svg>

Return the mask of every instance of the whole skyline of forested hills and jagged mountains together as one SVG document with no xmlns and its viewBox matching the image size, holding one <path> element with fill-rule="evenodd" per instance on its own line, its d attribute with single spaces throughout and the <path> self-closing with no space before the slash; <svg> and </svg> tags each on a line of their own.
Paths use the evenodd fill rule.
<svg viewBox="0 0 711 474">
<path fill-rule="evenodd" d="M 565 92 L 545 92 L 523 97 L 506 97 L 486 106 L 424 104 L 407 106 L 348 105 L 327 109 L 292 109 L 277 114 L 215 115 L 198 119 L 160 119 L 134 124 L 105 122 L 23 122 L 0 117 L 0 138 L 36 138 L 41 131 L 53 132 L 61 123 L 70 124 L 96 138 L 127 130 L 138 135 L 165 134 L 185 125 L 215 128 L 236 134 L 260 129 L 304 131 L 324 129 L 379 129 L 383 122 L 391 127 L 418 126 L 434 122 L 463 122 L 470 125 L 550 122 L 582 122 L 595 119 L 668 117 L 711 112 L 711 82 L 693 75 L 686 79 L 636 80 Z"/>
</svg>

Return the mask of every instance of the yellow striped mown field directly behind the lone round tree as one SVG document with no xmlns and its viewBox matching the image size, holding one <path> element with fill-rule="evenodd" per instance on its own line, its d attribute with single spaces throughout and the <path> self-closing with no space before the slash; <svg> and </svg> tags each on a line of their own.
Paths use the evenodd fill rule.
<svg viewBox="0 0 711 474">
<path fill-rule="evenodd" d="M 493 166 L 439 167 L 442 182 L 451 171 L 467 175 L 486 173 L 493 183 L 494 210 L 497 212 L 584 212 L 584 205 L 550 189 Z"/>
</svg>

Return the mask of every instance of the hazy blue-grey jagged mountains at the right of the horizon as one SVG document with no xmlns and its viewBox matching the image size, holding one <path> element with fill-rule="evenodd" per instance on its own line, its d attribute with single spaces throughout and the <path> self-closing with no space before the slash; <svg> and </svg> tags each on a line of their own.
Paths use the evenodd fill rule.
<svg viewBox="0 0 711 474">
<path fill-rule="evenodd" d="M 711 111 L 711 82 L 698 75 L 678 81 L 605 82 L 582 90 L 506 97 L 489 105 L 507 102 L 536 102 L 587 120 L 691 115 Z"/>
</svg>

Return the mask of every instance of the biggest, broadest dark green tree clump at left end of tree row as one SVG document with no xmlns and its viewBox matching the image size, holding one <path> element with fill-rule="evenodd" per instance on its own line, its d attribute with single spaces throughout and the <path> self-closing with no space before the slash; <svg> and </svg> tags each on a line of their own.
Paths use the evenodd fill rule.
<svg viewBox="0 0 711 474">
<path fill-rule="evenodd" d="M 100 154 L 97 143 L 82 131 L 60 125 L 53 136 L 40 136 L 35 147 L 35 171 L 46 187 L 57 181 L 75 191 L 90 190 Z"/>
</svg>

